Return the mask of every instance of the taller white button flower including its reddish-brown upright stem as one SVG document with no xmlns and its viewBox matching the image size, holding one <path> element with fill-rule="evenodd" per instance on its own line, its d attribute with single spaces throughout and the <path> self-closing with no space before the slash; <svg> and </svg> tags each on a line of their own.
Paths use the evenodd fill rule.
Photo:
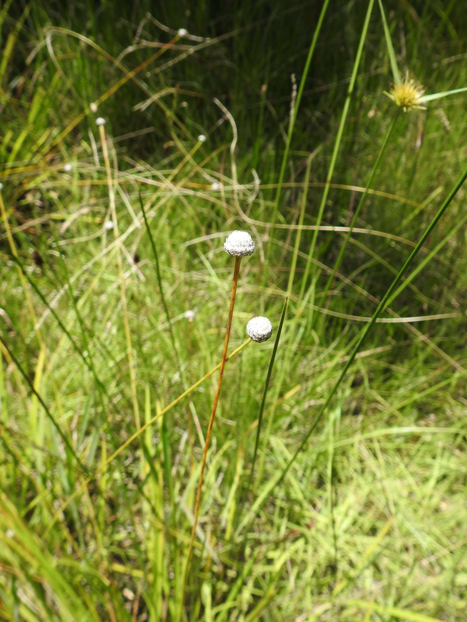
<svg viewBox="0 0 467 622">
<path fill-rule="evenodd" d="M 207 450 L 209 448 L 209 441 L 210 441 L 211 433 L 212 433 L 212 425 L 214 424 L 215 411 L 217 409 L 217 404 L 219 403 L 220 388 L 222 387 L 222 378 L 224 377 L 224 366 L 225 366 L 225 359 L 227 358 L 227 348 L 229 346 L 230 327 L 232 325 L 232 315 L 234 315 L 235 292 L 237 292 L 238 274 L 240 272 L 240 262 L 242 261 L 242 257 L 246 255 L 251 255 L 255 252 L 255 243 L 252 240 L 252 236 L 250 236 L 250 234 L 247 233 L 247 231 L 234 231 L 225 240 L 224 251 L 225 253 L 229 255 L 233 255 L 235 257 L 234 278 L 232 280 L 232 292 L 230 293 L 229 318 L 227 320 L 227 328 L 225 329 L 224 350 L 222 351 L 222 360 L 220 361 L 219 380 L 217 381 L 217 389 L 215 391 L 214 402 L 212 404 L 212 411 L 211 411 L 211 415 L 209 418 L 209 424 L 207 426 L 207 433 L 206 433 L 206 440 L 204 443 L 203 455 L 201 458 L 201 468 L 200 468 L 200 473 L 199 473 L 198 488 L 196 491 L 194 520 L 193 520 L 192 529 L 191 529 L 190 544 L 188 547 L 186 565 L 185 565 L 185 570 L 184 570 L 184 577 L 182 581 L 182 600 L 183 600 L 184 589 L 185 589 L 186 580 L 188 576 L 191 553 L 193 550 L 193 542 L 194 542 L 194 537 L 196 534 L 196 526 L 198 524 L 199 505 L 201 501 L 201 488 L 202 488 L 202 483 L 203 483 L 204 467 L 206 465 L 206 455 L 207 455 Z"/>
</svg>

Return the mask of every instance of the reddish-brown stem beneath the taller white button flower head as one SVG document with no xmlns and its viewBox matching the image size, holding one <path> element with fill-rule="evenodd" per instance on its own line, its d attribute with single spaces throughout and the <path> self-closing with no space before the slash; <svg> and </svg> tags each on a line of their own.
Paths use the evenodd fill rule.
<svg viewBox="0 0 467 622">
<path fill-rule="evenodd" d="M 198 523 L 199 506 L 200 506 L 200 501 L 201 501 L 201 488 L 202 488 L 202 483 L 203 483 L 203 478 L 204 478 L 204 468 L 206 465 L 207 450 L 209 449 L 209 441 L 211 438 L 212 426 L 214 425 L 215 411 L 217 410 L 217 404 L 219 403 L 220 389 L 222 388 L 222 378 L 224 377 L 224 366 L 225 366 L 225 360 L 227 356 L 227 348 L 229 346 L 230 326 L 232 325 L 232 315 L 234 315 L 235 294 L 237 292 L 238 274 L 240 272 L 241 261 L 242 261 L 241 257 L 235 257 L 234 278 L 232 279 L 232 292 L 230 294 L 229 319 L 227 320 L 227 328 L 225 329 L 224 351 L 222 352 L 222 360 L 220 363 L 219 380 L 217 381 L 217 389 L 215 391 L 214 402 L 212 404 L 212 411 L 211 411 L 211 415 L 209 418 L 209 424 L 207 426 L 207 434 L 206 434 L 206 440 L 204 443 L 203 455 L 201 458 L 201 470 L 199 473 L 198 488 L 196 491 L 194 521 L 193 521 L 193 526 L 191 529 L 190 544 L 188 547 L 185 572 L 184 572 L 184 577 L 183 577 L 183 582 L 182 582 L 182 597 L 181 597 L 180 610 L 179 610 L 179 616 L 178 616 L 179 620 L 181 618 L 181 612 L 183 608 L 185 585 L 186 585 L 186 580 L 187 580 L 187 575 L 188 575 L 188 570 L 189 570 L 189 565 L 190 565 L 190 560 L 191 560 L 191 554 L 193 550 L 193 542 L 194 542 L 194 538 L 196 535 L 196 526 Z"/>
</svg>

